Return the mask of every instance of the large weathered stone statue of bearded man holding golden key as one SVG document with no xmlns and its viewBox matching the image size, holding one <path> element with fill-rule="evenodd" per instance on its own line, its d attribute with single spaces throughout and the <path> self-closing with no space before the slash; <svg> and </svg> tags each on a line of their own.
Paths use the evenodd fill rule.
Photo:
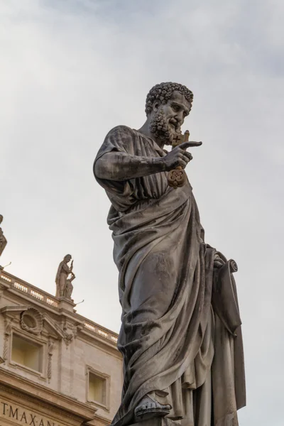
<svg viewBox="0 0 284 426">
<path fill-rule="evenodd" d="M 192 100 L 181 84 L 156 84 L 141 129 L 115 127 L 94 160 L 111 202 L 122 307 L 124 387 L 113 426 L 157 417 L 237 426 L 246 405 L 236 263 L 204 241 L 184 170 L 187 148 L 201 145 L 181 133 Z"/>
</svg>

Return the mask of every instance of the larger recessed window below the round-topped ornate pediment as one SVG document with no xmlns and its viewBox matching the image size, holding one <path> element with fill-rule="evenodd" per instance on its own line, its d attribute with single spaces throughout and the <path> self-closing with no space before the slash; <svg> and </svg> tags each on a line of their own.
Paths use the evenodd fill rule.
<svg viewBox="0 0 284 426">
<path fill-rule="evenodd" d="M 43 372 L 43 346 L 13 334 L 11 361 Z"/>
</svg>

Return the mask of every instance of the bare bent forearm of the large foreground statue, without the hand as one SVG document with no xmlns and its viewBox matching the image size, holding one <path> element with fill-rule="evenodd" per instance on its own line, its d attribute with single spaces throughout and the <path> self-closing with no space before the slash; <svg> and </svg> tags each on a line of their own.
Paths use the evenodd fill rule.
<svg viewBox="0 0 284 426">
<path fill-rule="evenodd" d="M 167 170 L 165 157 L 140 157 L 121 152 L 104 153 L 94 163 L 94 175 L 99 179 L 129 180 Z"/>
</svg>

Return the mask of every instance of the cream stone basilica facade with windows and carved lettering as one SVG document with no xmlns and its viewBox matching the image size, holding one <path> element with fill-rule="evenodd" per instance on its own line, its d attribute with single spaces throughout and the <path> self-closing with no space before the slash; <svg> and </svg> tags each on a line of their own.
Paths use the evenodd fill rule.
<svg viewBox="0 0 284 426">
<path fill-rule="evenodd" d="M 117 335 L 0 271 L 0 425 L 106 426 L 123 382 Z"/>
</svg>

